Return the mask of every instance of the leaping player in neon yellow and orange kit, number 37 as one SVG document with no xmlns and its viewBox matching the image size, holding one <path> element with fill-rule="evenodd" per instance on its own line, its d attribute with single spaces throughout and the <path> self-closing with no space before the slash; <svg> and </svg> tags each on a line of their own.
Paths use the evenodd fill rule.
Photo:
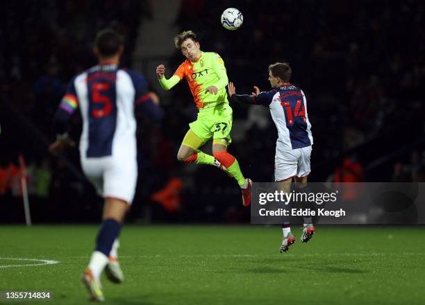
<svg viewBox="0 0 425 305">
<path fill-rule="evenodd" d="M 177 159 L 222 168 L 238 182 L 242 189 L 242 204 L 247 207 L 251 203 L 252 182 L 244 178 L 238 160 L 227 152 L 231 143 L 233 111 L 227 99 L 228 78 L 224 62 L 217 53 L 201 51 L 197 35 L 192 30 L 178 34 L 174 43 L 186 60 L 169 79 L 164 76 L 165 66 L 160 64 L 156 68 L 160 85 L 169 90 L 185 78 L 199 109 L 197 121 L 189 124 L 190 129 L 181 143 Z M 213 156 L 199 150 L 211 138 Z"/>
</svg>

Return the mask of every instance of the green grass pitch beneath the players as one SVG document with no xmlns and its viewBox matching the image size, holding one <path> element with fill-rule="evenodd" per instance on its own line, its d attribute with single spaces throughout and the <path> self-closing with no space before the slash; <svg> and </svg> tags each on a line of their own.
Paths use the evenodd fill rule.
<svg viewBox="0 0 425 305">
<path fill-rule="evenodd" d="M 36 304 L 87 302 L 80 277 L 97 226 L 0 232 L 0 290 L 53 292 Z M 425 304 L 425 227 L 317 227 L 306 244 L 292 232 L 297 243 L 280 254 L 279 227 L 124 227 L 126 279 L 103 277 L 106 304 Z M 5 267 L 35 263 L 5 258 L 59 263 Z"/>
</svg>

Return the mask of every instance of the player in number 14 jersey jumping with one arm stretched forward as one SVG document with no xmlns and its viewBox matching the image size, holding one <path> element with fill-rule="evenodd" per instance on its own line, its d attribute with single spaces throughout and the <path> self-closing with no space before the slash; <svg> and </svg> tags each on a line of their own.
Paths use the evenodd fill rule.
<svg viewBox="0 0 425 305">
<path fill-rule="evenodd" d="M 231 101 L 269 107 L 278 130 L 274 159 L 278 190 L 289 193 L 294 178 L 296 189 L 309 193 L 307 176 L 310 173 L 313 135 L 308 121 L 306 96 L 299 87 L 290 84 L 291 76 L 292 69 L 288 63 L 276 62 L 269 65 L 269 82 L 273 88 L 271 91 L 260 92 L 260 89 L 254 86 L 255 92 L 251 95 L 235 94 L 235 86 L 229 82 L 228 95 L 231 96 Z M 283 224 L 282 230 L 280 251 L 286 252 L 295 242 L 295 238 L 289 223 Z M 311 217 L 304 218 L 301 241 L 310 241 L 314 233 Z"/>
</svg>

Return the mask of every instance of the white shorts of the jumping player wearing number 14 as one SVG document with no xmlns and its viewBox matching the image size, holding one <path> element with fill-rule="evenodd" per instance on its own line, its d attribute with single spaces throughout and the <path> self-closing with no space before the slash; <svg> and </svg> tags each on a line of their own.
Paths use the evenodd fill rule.
<svg viewBox="0 0 425 305">
<path fill-rule="evenodd" d="M 276 146 L 274 157 L 274 180 L 281 181 L 290 177 L 306 177 L 310 173 L 311 146 L 284 150 Z"/>
</svg>

